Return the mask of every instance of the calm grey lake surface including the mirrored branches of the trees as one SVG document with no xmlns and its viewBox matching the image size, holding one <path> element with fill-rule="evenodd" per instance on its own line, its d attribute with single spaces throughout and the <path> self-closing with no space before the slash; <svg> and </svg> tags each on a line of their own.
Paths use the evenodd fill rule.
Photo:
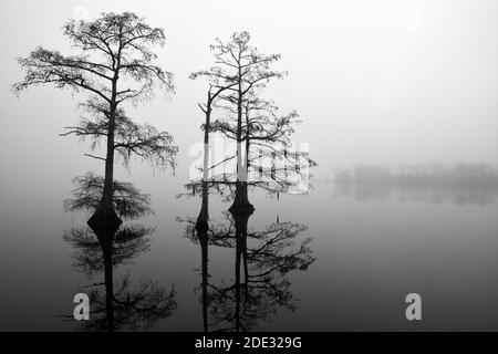
<svg viewBox="0 0 498 354">
<path fill-rule="evenodd" d="M 423 196 L 440 194 L 427 188 L 417 198 L 355 188 L 317 181 L 305 196 L 279 198 L 255 190 L 256 210 L 241 223 L 211 192 L 208 238 L 195 228 L 201 194 L 173 199 L 177 208 L 153 196 L 155 215 L 125 222 L 114 237 L 114 330 L 498 329 L 496 202 L 474 195 L 460 202 L 450 189 L 434 202 Z M 183 192 L 181 185 L 169 189 L 173 198 Z M 108 330 L 107 250 L 86 215 L 50 212 L 59 225 L 3 221 L 12 244 L 3 261 L 18 275 L 6 279 L 1 326 Z M 235 236 L 246 221 L 243 244 Z M 82 289 L 94 299 L 94 321 L 66 321 Z M 404 315 L 411 292 L 423 299 L 418 323 Z M 143 306 L 129 306 L 134 299 L 145 299 Z"/>
</svg>

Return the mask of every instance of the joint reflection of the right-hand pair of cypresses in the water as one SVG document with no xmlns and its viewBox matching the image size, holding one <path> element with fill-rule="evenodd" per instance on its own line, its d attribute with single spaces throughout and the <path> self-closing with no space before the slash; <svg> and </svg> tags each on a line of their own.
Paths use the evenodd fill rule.
<svg viewBox="0 0 498 354">
<path fill-rule="evenodd" d="M 207 185 L 206 185 L 207 186 Z M 278 308 L 295 310 L 289 272 L 307 270 L 314 262 L 308 247 L 311 238 L 297 244 L 307 230 L 294 222 L 273 222 L 263 230 L 248 229 L 251 214 L 225 212 L 224 220 L 208 223 L 207 188 L 196 219 L 187 222 L 186 235 L 201 249 L 201 304 L 205 331 L 250 331 L 270 320 Z M 208 248 L 234 248 L 235 279 L 214 283 L 208 271 Z"/>
</svg>

